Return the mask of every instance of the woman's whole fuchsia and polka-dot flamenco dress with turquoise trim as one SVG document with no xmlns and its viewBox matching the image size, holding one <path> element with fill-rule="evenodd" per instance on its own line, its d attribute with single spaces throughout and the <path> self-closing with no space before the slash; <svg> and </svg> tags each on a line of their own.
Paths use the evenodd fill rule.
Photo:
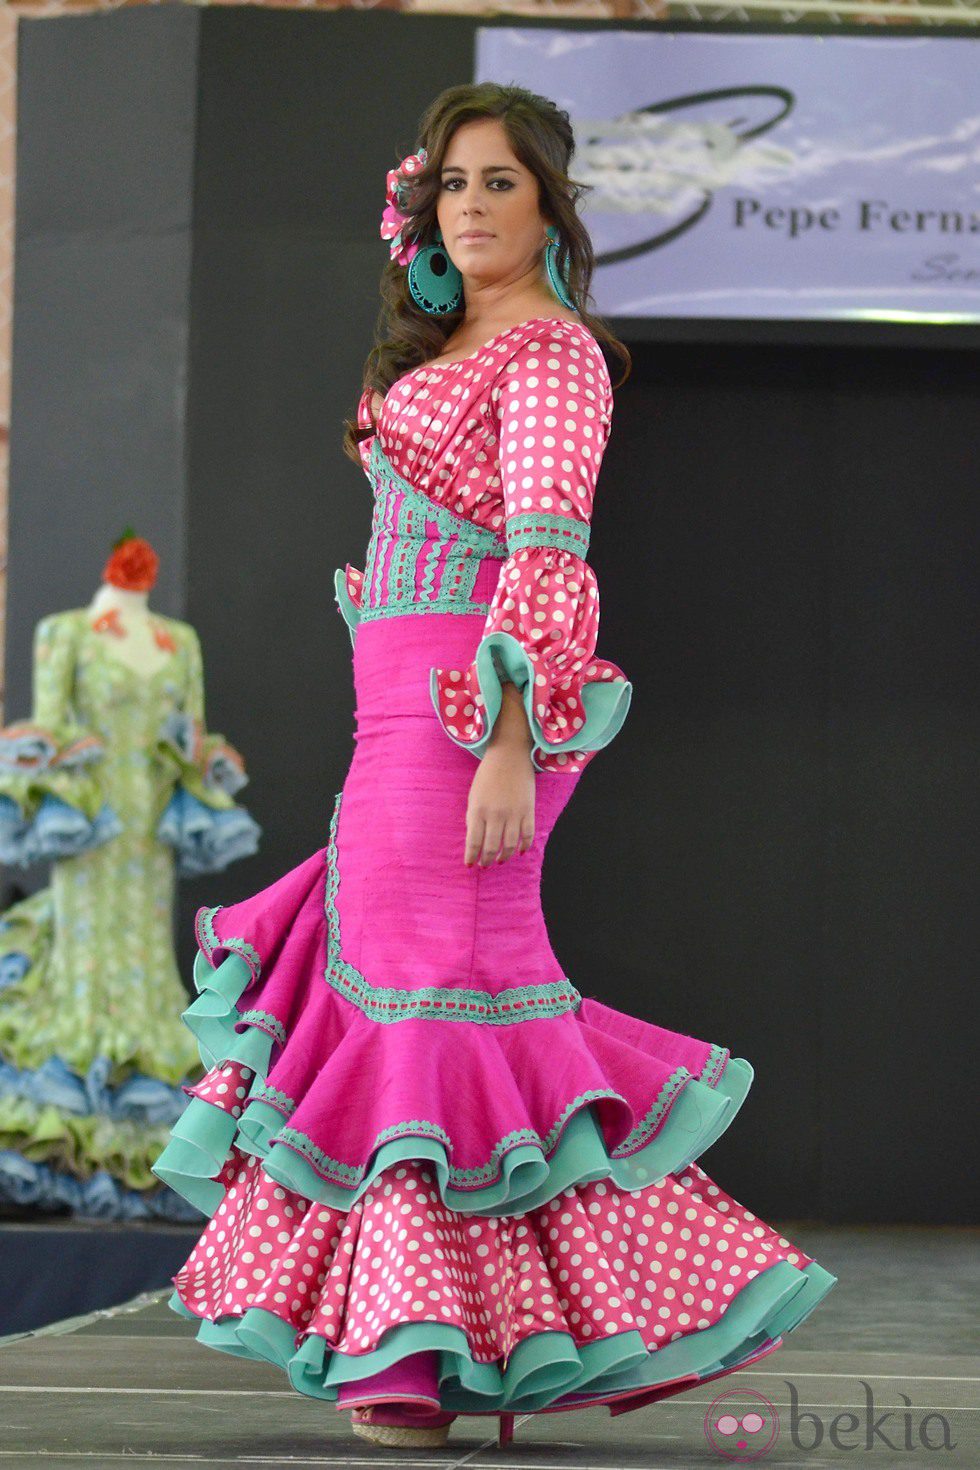
<svg viewBox="0 0 980 1470">
<path fill-rule="evenodd" d="M 354 756 L 326 845 L 197 914 L 207 1075 L 153 1166 L 210 1216 L 170 1297 L 200 1342 L 339 1410 L 498 1414 L 501 1442 L 733 1373 L 836 1283 L 696 1163 L 749 1063 L 583 995 L 548 941 L 548 836 L 632 697 L 585 560 L 611 410 L 560 318 L 389 390 L 364 570 L 335 576 Z M 466 867 L 505 679 L 535 839 Z"/>
</svg>

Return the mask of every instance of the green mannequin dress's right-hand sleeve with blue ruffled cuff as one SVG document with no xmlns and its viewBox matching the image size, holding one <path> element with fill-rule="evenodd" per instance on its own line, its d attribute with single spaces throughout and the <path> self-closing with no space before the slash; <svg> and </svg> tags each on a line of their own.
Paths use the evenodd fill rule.
<svg viewBox="0 0 980 1470">
<path fill-rule="evenodd" d="M 257 853 L 262 828 L 235 801 L 248 784 L 241 753 L 207 731 L 200 638 L 190 623 L 175 626 L 185 645 L 187 682 L 181 709 L 166 716 L 157 738 L 157 759 L 170 766 L 175 786 L 156 833 L 173 848 L 178 876 L 197 878 Z"/>
</svg>

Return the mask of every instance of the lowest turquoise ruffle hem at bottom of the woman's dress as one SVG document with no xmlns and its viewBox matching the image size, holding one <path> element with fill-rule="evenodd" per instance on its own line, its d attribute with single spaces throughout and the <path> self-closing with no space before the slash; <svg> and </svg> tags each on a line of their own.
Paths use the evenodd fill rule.
<svg viewBox="0 0 980 1470">
<path fill-rule="evenodd" d="M 801 1269 L 776 1261 L 754 1276 L 710 1327 L 649 1349 L 638 1330 L 597 1342 L 567 1332 L 536 1332 L 498 1363 L 475 1363 L 466 1333 L 436 1322 L 398 1323 L 372 1352 L 336 1352 L 314 1333 L 300 1333 L 264 1307 L 238 1317 L 197 1317 L 173 1292 L 169 1305 L 198 1323 L 197 1341 L 220 1352 L 282 1369 L 292 1388 L 336 1401 L 341 1383 L 381 1373 L 413 1352 L 439 1352 L 439 1405 L 448 1413 L 535 1413 L 580 1407 L 607 1395 L 641 1394 L 680 1377 L 732 1372 L 767 1341 L 792 1332 L 823 1301 L 837 1277 L 815 1261 Z"/>
</svg>

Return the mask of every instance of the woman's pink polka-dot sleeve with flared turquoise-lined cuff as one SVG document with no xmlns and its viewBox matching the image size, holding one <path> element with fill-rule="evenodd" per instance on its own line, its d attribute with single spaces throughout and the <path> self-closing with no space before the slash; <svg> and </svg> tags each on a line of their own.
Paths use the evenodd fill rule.
<svg viewBox="0 0 980 1470">
<path fill-rule="evenodd" d="M 444 731 L 482 759 L 502 684 L 523 692 L 536 770 L 579 772 L 619 734 L 633 685 L 595 657 L 599 594 L 589 548 L 613 390 L 595 343 L 539 332 L 491 390 L 500 442 L 507 560 L 473 662 L 432 669 Z"/>
</svg>

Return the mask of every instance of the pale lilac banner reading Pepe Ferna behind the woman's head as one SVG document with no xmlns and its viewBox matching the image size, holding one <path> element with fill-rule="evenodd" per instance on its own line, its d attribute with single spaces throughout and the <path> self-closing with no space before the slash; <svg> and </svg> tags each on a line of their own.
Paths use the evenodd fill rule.
<svg viewBox="0 0 980 1470">
<path fill-rule="evenodd" d="M 980 40 L 494 26 L 564 107 L 604 316 L 980 322 Z"/>
</svg>

